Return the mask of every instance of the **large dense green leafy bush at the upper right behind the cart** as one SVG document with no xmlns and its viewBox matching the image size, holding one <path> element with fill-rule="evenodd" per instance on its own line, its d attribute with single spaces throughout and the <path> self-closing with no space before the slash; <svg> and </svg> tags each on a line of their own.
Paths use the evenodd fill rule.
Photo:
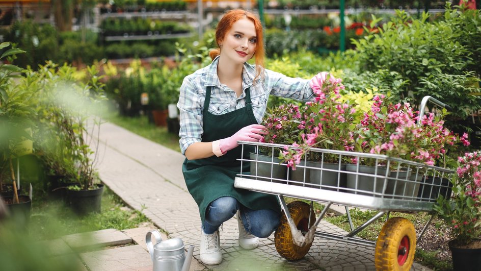
<svg viewBox="0 0 481 271">
<path fill-rule="evenodd" d="M 481 66 L 480 59 L 473 58 L 479 54 L 476 47 L 479 43 L 467 46 L 462 41 L 474 29 L 479 31 L 479 11 L 460 12 L 448 5 L 444 18 L 431 23 L 427 22 L 427 14 L 421 19 L 413 19 L 403 11 L 396 14 L 379 33 L 353 41 L 357 48 L 358 75 L 372 77 L 369 79 L 372 82 L 380 80 L 381 86 L 392 87 L 393 95 L 414 105 L 425 95 L 439 98 L 453 108 L 448 122 L 456 123 L 457 119 L 466 119 L 481 109 L 481 96 L 473 95 L 481 92 L 479 78 L 472 70 Z M 465 18 L 468 16 L 470 19 Z M 473 41 L 479 37 L 467 39 Z M 366 72 L 378 70 L 382 71 L 380 75 Z M 392 85 L 395 82 L 402 84 Z"/>
</svg>

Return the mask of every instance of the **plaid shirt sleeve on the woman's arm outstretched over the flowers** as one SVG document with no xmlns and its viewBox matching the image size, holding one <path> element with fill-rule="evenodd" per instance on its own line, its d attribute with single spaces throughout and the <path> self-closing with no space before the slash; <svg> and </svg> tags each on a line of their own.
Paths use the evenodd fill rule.
<svg viewBox="0 0 481 271">
<path fill-rule="evenodd" d="M 310 79 L 291 78 L 282 73 L 265 69 L 265 84 L 271 89 L 270 94 L 306 102 L 314 97 L 309 86 Z"/>
</svg>

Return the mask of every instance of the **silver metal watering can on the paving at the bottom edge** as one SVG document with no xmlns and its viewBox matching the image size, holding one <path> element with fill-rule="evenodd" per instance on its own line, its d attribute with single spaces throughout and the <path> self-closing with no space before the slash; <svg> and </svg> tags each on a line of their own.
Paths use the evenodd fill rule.
<svg viewBox="0 0 481 271">
<path fill-rule="evenodd" d="M 155 244 L 152 244 L 152 235 L 157 241 Z M 194 245 L 189 246 L 185 256 L 182 239 L 172 238 L 162 241 L 158 231 L 148 232 L 145 242 L 152 258 L 153 271 L 188 271 L 191 267 Z"/>
</svg>

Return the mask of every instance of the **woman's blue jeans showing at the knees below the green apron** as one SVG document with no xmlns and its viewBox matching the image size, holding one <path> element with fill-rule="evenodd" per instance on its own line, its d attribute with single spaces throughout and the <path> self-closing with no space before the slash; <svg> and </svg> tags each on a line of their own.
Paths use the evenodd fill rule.
<svg viewBox="0 0 481 271">
<path fill-rule="evenodd" d="M 251 210 L 232 198 L 223 196 L 207 206 L 202 229 L 206 234 L 216 232 L 222 223 L 232 218 L 237 210 L 241 211 L 242 223 L 250 234 L 269 237 L 279 227 L 280 214 L 274 210 Z"/>
</svg>

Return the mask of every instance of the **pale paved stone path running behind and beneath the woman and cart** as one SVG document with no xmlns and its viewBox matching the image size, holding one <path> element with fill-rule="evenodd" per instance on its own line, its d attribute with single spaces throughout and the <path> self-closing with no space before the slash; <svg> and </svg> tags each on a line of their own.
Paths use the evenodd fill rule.
<svg viewBox="0 0 481 271">
<path fill-rule="evenodd" d="M 279 256 L 274 235 L 261 239 L 257 249 L 243 250 L 238 245 L 234 218 L 224 223 L 221 230 L 223 262 L 216 266 L 204 265 L 199 261 L 198 208 L 186 189 L 181 172 L 184 157 L 110 123 L 102 124 L 100 141 L 98 169 L 101 180 L 127 205 L 143 212 L 156 227 L 167 232 L 166 238 L 179 237 L 186 245 L 194 244 L 191 270 L 375 269 L 372 248 L 320 238 L 315 238 L 309 253 L 296 262 Z M 322 221 L 319 228 L 326 232 L 343 232 L 327 221 Z M 144 241 L 149 230 L 121 232 L 131 238 L 130 245 L 86 252 L 81 255 L 82 260 L 92 271 L 150 270 L 152 265 Z M 411 270 L 429 269 L 415 263 Z"/>
</svg>

